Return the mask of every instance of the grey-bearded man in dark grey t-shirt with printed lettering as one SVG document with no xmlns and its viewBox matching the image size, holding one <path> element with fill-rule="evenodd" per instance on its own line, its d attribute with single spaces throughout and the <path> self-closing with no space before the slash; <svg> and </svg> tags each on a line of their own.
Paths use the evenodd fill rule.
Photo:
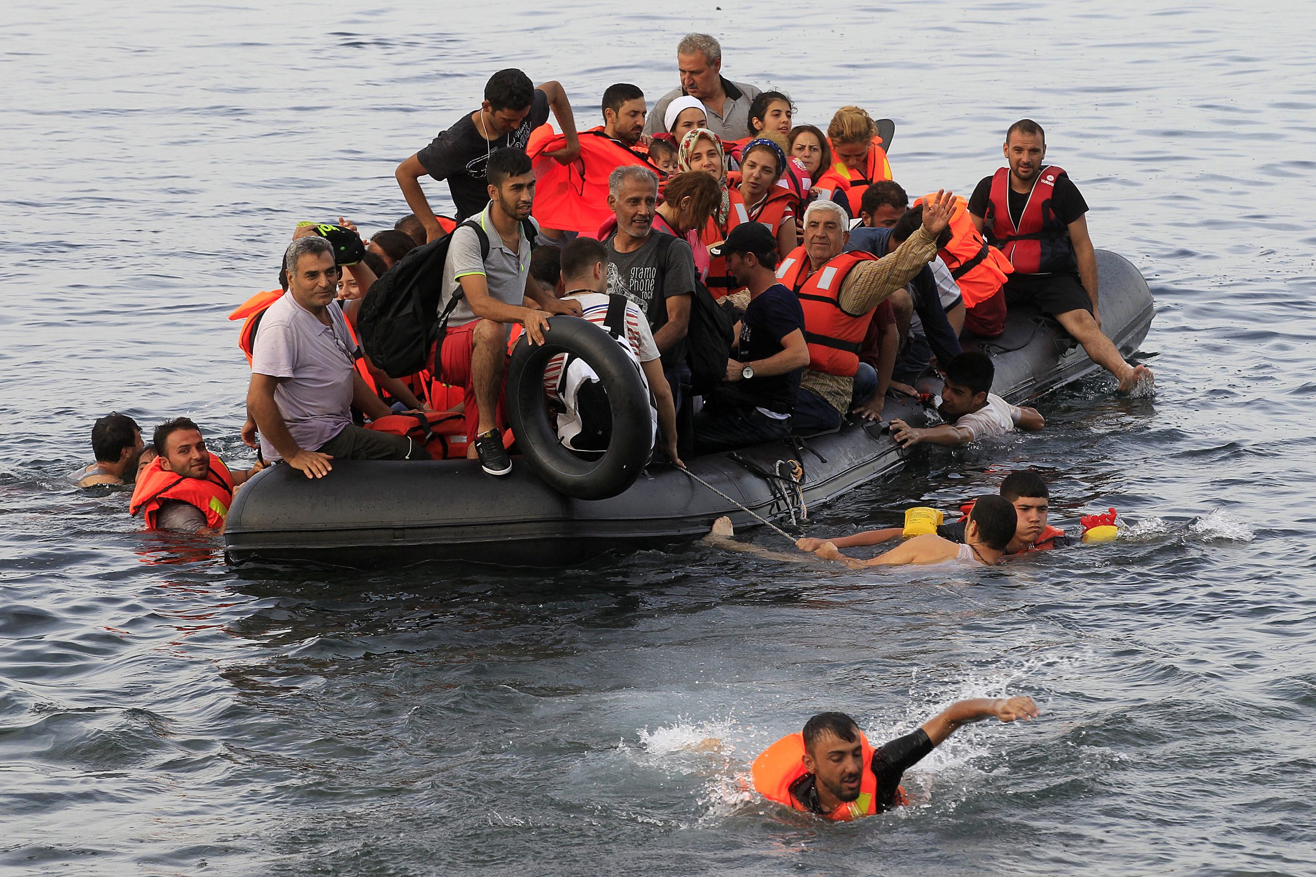
<svg viewBox="0 0 1316 877">
<path fill-rule="evenodd" d="M 608 176 L 608 208 L 617 222 L 604 241 L 608 292 L 626 296 L 649 318 L 679 413 L 690 389 L 686 330 L 695 295 L 695 255 L 684 241 L 654 231 L 657 206 L 658 175 L 647 167 L 622 164 Z"/>
</svg>

